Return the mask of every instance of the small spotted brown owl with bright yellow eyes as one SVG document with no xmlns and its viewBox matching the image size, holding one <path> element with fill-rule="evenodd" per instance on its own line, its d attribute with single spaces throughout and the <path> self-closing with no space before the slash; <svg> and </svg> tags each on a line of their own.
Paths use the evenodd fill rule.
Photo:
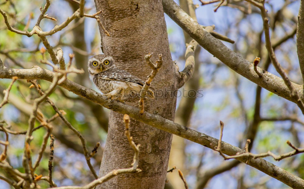
<svg viewBox="0 0 304 189">
<path fill-rule="evenodd" d="M 90 79 L 107 98 L 120 102 L 137 96 L 145 84 L 143 80 L 127 71 L 117 69 L 111 56 L 93 56 L 88 61 L 88 71 Z M 147 95 L 154 99 L 152 90 L 148 89 Z"/>
</svg>

